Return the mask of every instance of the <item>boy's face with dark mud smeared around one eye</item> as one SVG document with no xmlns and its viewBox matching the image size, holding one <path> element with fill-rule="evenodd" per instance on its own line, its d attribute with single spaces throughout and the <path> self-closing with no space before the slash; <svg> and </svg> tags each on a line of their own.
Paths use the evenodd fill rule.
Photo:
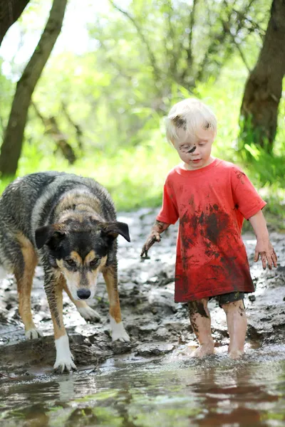
<svg viewBox="0 0 285 427">
<path fill-rule="evenodd" d="M 212 163 L 211 151 L 215 137 L 212 129 L 200 129 L 196 135 L 188 135 L 180 127 L 177 128 L 177 137 L 173 145 L 180 159 L 185 162 L 186 169 L 201 169 Z"/>
</svg>

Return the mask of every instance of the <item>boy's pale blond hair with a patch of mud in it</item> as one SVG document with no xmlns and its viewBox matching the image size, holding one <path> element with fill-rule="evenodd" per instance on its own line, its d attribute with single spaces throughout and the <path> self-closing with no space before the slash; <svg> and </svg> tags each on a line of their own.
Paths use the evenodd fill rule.
<svg viewBox="0 0 285 427">
<path fill-rule="evenodd" d="M 182 128 L 188 135 L 196 135 L 197 130 L 213 130 L 217 133 L 217 119 L 212 110 L 196 98 L 187 98 L 177 102 L 171 108 L 165 121 L 166 137 L 172 142 L 177 137 L 177 128 Z"/>
</svg>

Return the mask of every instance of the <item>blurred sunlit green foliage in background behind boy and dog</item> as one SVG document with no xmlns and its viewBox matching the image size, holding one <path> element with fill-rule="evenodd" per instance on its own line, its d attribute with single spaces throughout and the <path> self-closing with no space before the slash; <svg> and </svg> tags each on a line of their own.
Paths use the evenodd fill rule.
<svg viewBox="0 0 285 427">
<path fill-rule="evenodd" d="M 17 174 L 53 169 L 93 176 L 110 190 L 119 210 L 159 206 L 165 176 L 179 162 L 165 140 L 164 116 L 173 103 L 196 96 L 217 115 L 214 156 L 240 164 L 271 201 L 274 215 L 284 216 L 284 122 L 279 121 L 271 155 L 250 140 L 241 152 L 237 147 L 239 108 L 248 74 L 237 43 L 252 67 L 270 6 L 264 0 L 250 3 L 247 9 L 246 0 L 210 1 L 207 6 L 198 1 L 193 25 L 192 4 L 182 0 L 133 0 L 127 5 L 118 0 L 116 4 L 128 8 L 135 24 L 112 6 L 107 13 L 98 13 L 89 25 L 88 49 L 81 55 L 71 50 L 53 53 L 33 93 L 41 115 L 56 117 L 77 162 L 70 167 L 56 151 L 55 140 L 31 106 Z M 36 23 L 31 31 L 27 23 L 39 7 L 34 1 L 31 16 L 20 23 L 24 37 L 38 31 Z M 224 38 L 225 21 L 234 39 L 229 33 Z M 192 63 L 187 62 L 191 25 Z M 11 73 L 0 75 L 0 132 L 9 117 L 21 68 L 14 60 L 10 65 Z M 279 117 L 284 115 L 282 100 Z M 83 132 L 83 150 L 78 147 L 75 125 Z M 0 190 L 7 182 L 0 182 Z"/>
</svg>

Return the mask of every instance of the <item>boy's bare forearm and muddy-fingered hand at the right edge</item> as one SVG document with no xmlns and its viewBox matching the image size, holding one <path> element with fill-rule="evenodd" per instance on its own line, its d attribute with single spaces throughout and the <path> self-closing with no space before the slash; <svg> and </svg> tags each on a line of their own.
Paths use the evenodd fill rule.
<svg viewBox="0 0 285 427">
<path fill-rule="evenodd" d="M 277 267 L 277 255 L 269 240 L 269 233 L 266 227 L 264 215 L 261 211 L 258 211 L 257 214 L 249 218 L 249 222 L 252 224 L 255 236 L 257 236 L 254 262 L 256 263 L 259 260 L 260 255 L 264 270 L 266 269 L 266 263 L 268 264 L 269 270 L 271 270 L 272 265 Z"/>
</svg>

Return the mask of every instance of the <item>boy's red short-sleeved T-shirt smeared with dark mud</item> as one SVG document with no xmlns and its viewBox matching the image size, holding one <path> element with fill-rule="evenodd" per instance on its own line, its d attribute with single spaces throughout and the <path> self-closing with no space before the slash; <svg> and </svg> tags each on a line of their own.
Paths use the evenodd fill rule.
<svg viewBox="0 0 285 427">
<path fill-rule="evenodd" d="M 175 302 L 254 291 L 242 223 L 265 205 L 232 163 L 214 159 L 195 171 L 180 166 L 170 171 L 157 221 L 180 220 Z"/>
</svg>

